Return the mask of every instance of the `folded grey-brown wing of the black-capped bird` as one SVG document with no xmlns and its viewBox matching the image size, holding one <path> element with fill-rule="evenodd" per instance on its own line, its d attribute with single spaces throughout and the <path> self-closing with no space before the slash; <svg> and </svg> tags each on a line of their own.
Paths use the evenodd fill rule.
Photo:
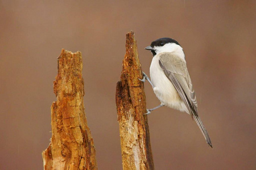
<svg viewBox="0 0 256 170">
<path fill-rule="evenodd" d="M 167 78 L 174 84 L 191 116 L 198 116 L 196 95 L 185 61 L 175 54 L 163 53 L 159 56 L 159 65 Z"/>
</svg>

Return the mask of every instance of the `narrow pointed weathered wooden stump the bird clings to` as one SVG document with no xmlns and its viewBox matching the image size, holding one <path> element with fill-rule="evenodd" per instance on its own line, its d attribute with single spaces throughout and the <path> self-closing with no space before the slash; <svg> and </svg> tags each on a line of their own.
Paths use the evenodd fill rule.
<svg viewBox="0 0 256 170">
<path fill-rule="evenodd" d="M 141 63 L 134 32 L 126 35 L 126 54 L 115 100 L 123 169 L 154 169 L 146 113 Z"/>
</svg>

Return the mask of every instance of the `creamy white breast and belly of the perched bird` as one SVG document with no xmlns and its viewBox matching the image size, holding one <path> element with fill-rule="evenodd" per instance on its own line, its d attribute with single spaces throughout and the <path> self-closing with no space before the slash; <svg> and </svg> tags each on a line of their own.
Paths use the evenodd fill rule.
<svg viewBox="0 0 256 170">
<path fill-rule="evenodd" d="M 151 82 L 154 84 L 153 90 L 155 95 L 162 104 L 181 112 L 188 112 L 174 85 L 167 78 L 159 65 L 159 54 L 156 54 L 152 59 L 150 65 L 150 78 Z"/>
</svg>

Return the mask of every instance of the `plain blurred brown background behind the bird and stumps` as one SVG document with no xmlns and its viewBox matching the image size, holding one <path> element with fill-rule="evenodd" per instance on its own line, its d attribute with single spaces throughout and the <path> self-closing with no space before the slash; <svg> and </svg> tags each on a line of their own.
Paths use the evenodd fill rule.
<svg viewBox="0 0 256 170">
<path fill-rule="evenodd" d="M 147 74 L 144 47 L 180 42 L 213 143 L 188 114 L 160 108 L 148 115 L 155 169 L 255 169 L 255 11 L 255 1 L 0 1 L 0 169 L 43 169 L 62 48 L 82 52 L 98 169 L 122 169 L 115 85 L 130 30 Z"/>
</svg>

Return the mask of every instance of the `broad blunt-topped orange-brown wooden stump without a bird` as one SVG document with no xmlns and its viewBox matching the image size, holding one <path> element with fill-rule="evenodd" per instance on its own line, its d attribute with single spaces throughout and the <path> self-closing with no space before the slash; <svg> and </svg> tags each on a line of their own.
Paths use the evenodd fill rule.
<svg viewBox="0 0 256 170">
<path fill-rule="evenodd" d="M 53 83 L 52 138 L 43 151 L 44 169 L 97 169 L 96 151 L 84 111 L 81 52 L 62 50 Z"/>
</svg>

